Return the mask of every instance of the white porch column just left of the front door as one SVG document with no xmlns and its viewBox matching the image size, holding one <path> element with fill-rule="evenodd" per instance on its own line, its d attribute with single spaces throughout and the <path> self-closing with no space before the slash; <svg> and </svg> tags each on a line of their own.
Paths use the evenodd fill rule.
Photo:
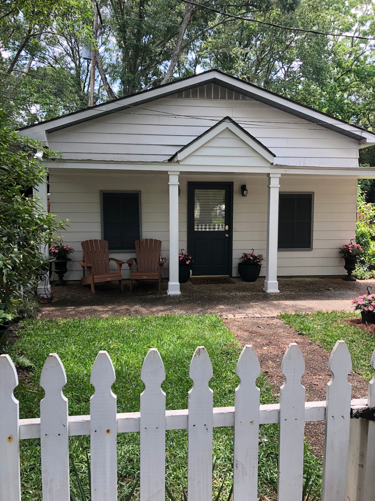
<svg viewBox="0 0 375 501">
<path fill-rule="evenodd" d="M 170 170 L 169 174 L 169 296 L 181 294 L 178 282 L 178 174 Z"/>
</svg>

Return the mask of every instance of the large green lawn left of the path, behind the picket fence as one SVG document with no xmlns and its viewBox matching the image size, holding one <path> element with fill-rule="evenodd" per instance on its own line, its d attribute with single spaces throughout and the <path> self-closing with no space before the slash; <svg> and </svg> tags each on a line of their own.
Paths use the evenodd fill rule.
<svg viewBox="0 0 375 501">
<path fill-rule="evenodd" d="M 210 387 L 215 407 L 233 405 L 234 389 L 238 385 L 235 367 L 241 350 L 233 334 L 216 316 L 159 316 L 135 318 L 106 318 L 80 320 L 29 320 L 18 331 L 19 337 L 8 346 L 9 355 L 16 360 L 26 357 L 33 367 L 21 369 L 23 384 L 36 393 L 15 390 L 20 403 L 20 417 L 39 416 L 38 385 L 40 371 L 48 353 L 59 355 L 67 375 L 63 393 L 69 399 L 69 414 L 88 414 L 89 397 L 93 387 L 89 376 L 99 350 L 106 350 L 116 371 L 112 386 L 117 395 L 117 412 L 139 410 L 139 394 L 143 390 L 140 381 L 142 362 L 149 348 L 157 348 L 164 363 L 167 409 L 187 407 L 187 391 L 192 382 L 188 377 L 189 363 L 197 346 L 205 346 L 213 368 Z M 257 381 L 261 390 L 261 403 L 272 403 L 275 397 L 264 375 Z M 225 479 L 223 494 L 227 496 L 231 485 L 233 429 L 215 428 L 213 446 L 213 491 Z M 259 494 L 261 498 L 274 498 L 277 486 L 277 425 L 262 425 L 259 441 Z M 119 499 L 139 477 L 139 435 L 118 434 L 118 469 L 124 482 L 119 482 Z M 85 447 L 88 437 L 70 437 L 70 452 L 84 478 L 87 490 Z M 166 433 L 166 482 L 174 494 L 180 495 L 187 484 L 187 430 Z M 320 461 L 305 447 L 305 471 L 316 473 L 318 485 Z M 22 499 L 39 501 L 40 449 L 39 440 L 21 442 Z M 71 474 L 73 495 L 78 495 L 75 477 Z M 227 497 L 222 496 L 222 499 Z M 78 496 L 79 497 L 79 496 Z"/>
</svg>

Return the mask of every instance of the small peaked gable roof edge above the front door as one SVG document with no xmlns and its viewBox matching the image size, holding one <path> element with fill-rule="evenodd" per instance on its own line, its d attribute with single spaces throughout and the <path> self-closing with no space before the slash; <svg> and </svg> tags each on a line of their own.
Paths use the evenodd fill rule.
<svg viewBox="0 0 375 501">
<path fill-rule="evenodd" d="M 224 129 L 231 130 L 236 136 L 242 139 L 242 141 L 248 144 L 248 146 L 259 153 L 259 155 L 264 157 L 270 163 L 273 162 L 273 158 L 276 155 L 230 117 L 224 117 L 215 125 L 212 125 L 212 127 L 200 134 L 200 136 L 197 136 L 195 139 L 180 148 L 174 153 L 174 155 L 168 158 L 168 162 L 176 162 L 177 160 L 186 158 Z"/>
</svg>

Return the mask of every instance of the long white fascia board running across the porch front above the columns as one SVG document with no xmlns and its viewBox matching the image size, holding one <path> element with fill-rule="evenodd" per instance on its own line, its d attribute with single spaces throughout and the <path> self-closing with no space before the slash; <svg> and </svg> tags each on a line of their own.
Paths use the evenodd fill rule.
<svg viewBox="0 0 375 501">
<path fill-rule="evenodd" d="M 168 173 L 171 167 L 175 168 L 180 173 L 220 173 L 220 174 L 268 174 L 270 172 L 279 174 L 306 174 L 306 175 L 328 175 L 328 176 L 353 176 L 356 178 L 375 178 L 375 168 L 366 167 L 298 167 L 290 165 L 270 165 L 269 167 L 246 167 L 246 166 L 210 166 L 210 165 L 180 165 L 177 162 L 122 162 L 111 160 L 45 160 L 43 162 L 48 169 L 97 169 L 97 170 L 114 170 L 114 171 L 149 171 Z"/>
</svg>

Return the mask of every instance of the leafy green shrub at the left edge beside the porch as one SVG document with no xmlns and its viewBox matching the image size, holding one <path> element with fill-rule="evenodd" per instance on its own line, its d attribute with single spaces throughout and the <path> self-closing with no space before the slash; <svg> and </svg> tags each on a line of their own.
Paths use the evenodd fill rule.
<svg viewBox="0 0 375 501">
<path fill-rule="evenodd" d="M 20 287 L 31 289 L 38 282 L 37 274 L 48 261 L 44 247 L 64 228 L 28 195 L 45 180 L 45 169 L 34 156 L 42 145 L 8 132 L 3 115 L 0 112 L 0 311 L 11 306 Z"/>
</svg>

